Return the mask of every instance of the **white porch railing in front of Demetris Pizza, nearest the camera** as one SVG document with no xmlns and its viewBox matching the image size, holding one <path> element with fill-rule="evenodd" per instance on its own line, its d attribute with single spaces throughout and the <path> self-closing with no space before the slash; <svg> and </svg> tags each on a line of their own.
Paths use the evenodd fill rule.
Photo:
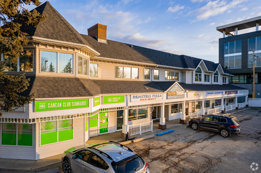
<svg viewBox="0 0 261 173">
<path fill-rule="evenodd" d="M 142 134 L 144 132 L 152 132 L 152 121 L 128 125 L 129 135 Z"/>
</svg>

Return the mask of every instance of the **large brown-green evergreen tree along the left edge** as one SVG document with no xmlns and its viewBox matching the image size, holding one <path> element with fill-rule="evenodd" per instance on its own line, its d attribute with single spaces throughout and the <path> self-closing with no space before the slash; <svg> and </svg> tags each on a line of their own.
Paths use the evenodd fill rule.
<svg viewBox="0 0 261 173">
<path fill-rule="evenodd" d="M 28 4 L 39 6 L 41 2 L 39 0 L 0 1 L 0 52 L 10 54 L 11 61 L 14 62 L 23 53 L 22 46 L 28 43 L 26 38 L 28 34 L 20 31 L 19 22 L 23 20 L 27 25 L 36 27 L 46 18 L 35 9 L 32 11 L 25 9 L 24 5 Z M 27 89 L 30 79 L 26 79 L 24 74 L 20 76 L 3 74 L 5 64 L 6 62 L 0 61 L 0 109 L 8 112 L 12 111 L 12 107 L 33 101 L 34 94 L 26 97 L 17 94 Z"/>
</svg>

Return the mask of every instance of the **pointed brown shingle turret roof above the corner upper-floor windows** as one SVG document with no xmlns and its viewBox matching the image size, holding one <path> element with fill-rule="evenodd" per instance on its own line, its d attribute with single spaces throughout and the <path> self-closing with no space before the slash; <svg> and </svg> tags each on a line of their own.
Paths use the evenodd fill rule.
<svg viewBox="0 0 261 173">
<path fill-rule="evenodd" d="M 90 44 L 82 38 L 82 36 L 66 21 L 61 14 L 54 9 L 49 2 L 35 8 L 40 14 L 46 15 L 45 21 L 40 23 L 37 27 L 27 25 L 24 21 L 18 21 L 22 26 L 20 30 L 29 34 L 29 36 L 36 36 L 46 39 L 53 39 L 59 41 L 66 41 L 77 44 Z M 91 46 L 90 46 L 91 47 Z"/>
</svg>

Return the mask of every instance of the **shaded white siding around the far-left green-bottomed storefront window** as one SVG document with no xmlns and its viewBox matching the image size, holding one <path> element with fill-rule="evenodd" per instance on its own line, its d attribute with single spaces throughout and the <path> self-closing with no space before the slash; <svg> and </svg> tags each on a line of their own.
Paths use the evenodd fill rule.
<svg viewBox="0 0 261 173">
<path fill-rule="evenodd" d="M 2 129 L 1 124 L 0 129 Z M 33 129 L 33 147 L 0 145 L 0 158 L 35 160 L 35 125 Z"/>
</svg>

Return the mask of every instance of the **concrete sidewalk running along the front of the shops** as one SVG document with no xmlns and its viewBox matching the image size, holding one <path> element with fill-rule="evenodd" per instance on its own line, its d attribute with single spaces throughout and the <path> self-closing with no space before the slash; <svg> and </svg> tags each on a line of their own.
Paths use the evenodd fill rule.
<svg viewBox="0 0 261 173">
<path fill-rule="evenodd" d="M 237 112 L 241 112 L 244 110 L 250 109 L 250 107 L 244 107 L 238 110 L 232 110 L 229 112 L 225 112 L 225 114 L 234 114 Z M 188 122 L 188 120 L 187 120 Z M 167 129 L 166 130 L 161 130 L 158 128 L 159 120 L 155 120 L 153 122 L 153 132 L 146 132 L 143 133 L 142 135 L 134 135 L 131 136 L 132 139 L 135 138 L 141 138 L 150 134 L 155 134 L 154 132 L 158 131 L 166 131 L 168 128 L 179 126 L 179 125 L 184 125 L 184 124 L 179 124 L 179 119 L 171 120 L 171 121 L 166 121 Z M 109 133 L 109 134 L 104 134 L 96 137 L 91 137 L 86 144 L 95 144 L 95 143 L 101 143 L 101 142 L 107 142 L 107 141 L 117 141 L 117 142 L 122 142 L 122 139 L 120 138 L 121 131 L 119 132 L 114 132 L 114 133 Z M 52 157 L 47 157 L 44 159 L 40 160 L 23 160 L 23 159 L 0 159 L 0 169 L 10 169 L 10 170 L 25 170 L 25 171 L 32 171 L 35 169 L 39 169 L 41 167 L 46 167 L 52 164 L 60 163 L 61 162 L 61 156 L 62 154 L 52 156 Z M 46 169 L 47 170 L 47 169 Z"/>
</svg>

